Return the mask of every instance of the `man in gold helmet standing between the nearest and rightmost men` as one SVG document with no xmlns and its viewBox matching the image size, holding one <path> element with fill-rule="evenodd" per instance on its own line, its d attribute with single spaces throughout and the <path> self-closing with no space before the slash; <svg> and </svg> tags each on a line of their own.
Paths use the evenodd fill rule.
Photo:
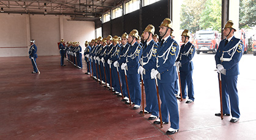
<svg viewBox="0 0 256 140">
<path fill-rule="evenodd" d="M 181 41 L 184 43 L 180 48 L 180 53 L 175 65 L 180 69 L 181 93 L 183 99 L 186 99 L 188 86 L 188 100 L 186 103 L 194 102 L 194 85 L 192 80 L 193 62 L 192 58 L 195 54 L 195 46 L 189 41 L 189 30 L 185 29 L 181 33 Z M 180 96 L 177 96 L 180 99 Z"/>
</svg>

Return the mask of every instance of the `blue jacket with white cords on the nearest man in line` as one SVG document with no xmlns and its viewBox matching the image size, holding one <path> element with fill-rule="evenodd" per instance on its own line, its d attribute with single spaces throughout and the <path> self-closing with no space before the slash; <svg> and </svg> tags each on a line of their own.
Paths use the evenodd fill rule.
<svg viewBox="0 0 256 140">
<path fill-rule="evenodd" d="M 158 46 L 156 70 L 161 74 L 161 80 L 158 80 L 160 83 L 172 83 L 178 79 L 176 66 L 174 66 L 178 50 L 178 43 L 170 36 L 164 41 L 163 46 Z"/>
</svg>

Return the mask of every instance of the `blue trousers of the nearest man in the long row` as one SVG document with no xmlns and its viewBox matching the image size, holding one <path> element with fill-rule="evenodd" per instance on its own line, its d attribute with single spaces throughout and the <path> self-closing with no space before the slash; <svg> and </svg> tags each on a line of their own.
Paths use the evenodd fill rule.
<svg viewBox="0 0 256 140">
<path fill-rule="evenodd" d="M 159 83 L 158 80 L 159 96 L 161 98 L 161 113 L 164 122 L 169 122 L 170 127 L 174 129 L 179 128 L 179 114 L 178 103 L 174 94 L 174 82 L 172 83 Z"/>
</svg>

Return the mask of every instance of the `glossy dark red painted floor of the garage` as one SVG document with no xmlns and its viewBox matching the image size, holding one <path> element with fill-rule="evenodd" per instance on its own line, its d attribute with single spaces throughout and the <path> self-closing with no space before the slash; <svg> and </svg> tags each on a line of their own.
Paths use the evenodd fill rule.
<svg viewBox="0 0 256 140">
<path fill-rule="evenodd" d="M 0 58 L 0 139 L 255 139 L 255 92 L 240 92 L 243 115 L 232 124 L 231 116 L 214 116 L 218 94 L 198 90 L 194 103 L 178 101 L 180 131 L 167 136 L 169 125 L 148 121 L 150 114 L 125 105 L 85 68 L 68 61 L 60 67 L 59 56 L 39 57 L 37 64 L 41 74 L 31 74 L 28 57 Z"/>
</svg>

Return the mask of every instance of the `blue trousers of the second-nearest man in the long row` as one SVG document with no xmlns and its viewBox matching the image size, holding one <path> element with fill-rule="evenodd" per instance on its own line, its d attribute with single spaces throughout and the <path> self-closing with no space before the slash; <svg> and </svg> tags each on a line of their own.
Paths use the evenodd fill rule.
<svg viewBox="0 0 256 140">
<path fill-rule="evenodd" d="M 158 98 L 156 94 L 156 82 L 155 79 L 144 79 L 144 88 L 146 94 L 146 105 L 145 110 L 151 112 L 153 115 L 158 116 Z"/>
</svg>

